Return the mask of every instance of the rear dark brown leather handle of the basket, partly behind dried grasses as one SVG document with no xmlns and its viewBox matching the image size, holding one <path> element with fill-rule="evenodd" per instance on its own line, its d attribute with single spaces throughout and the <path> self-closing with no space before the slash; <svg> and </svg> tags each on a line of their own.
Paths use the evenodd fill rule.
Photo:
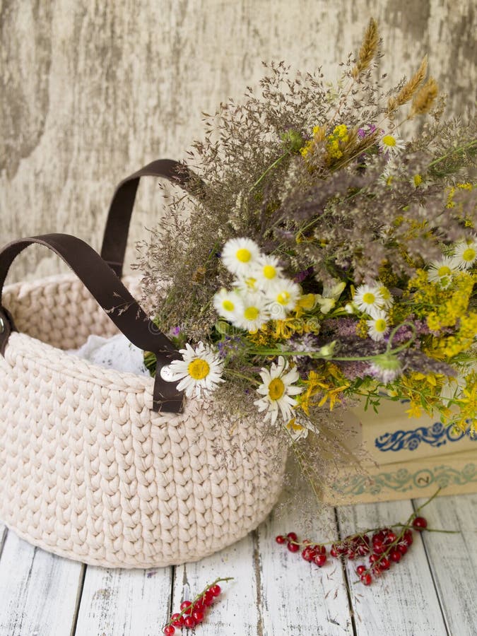
<svg viewBox="0 0 477 636">
<path fill-rule="evenodd" d="M 122 276 L 129 223 L 141 177 L 163 177 L 186 189 L 187 183 L 194 176 L 185 165 L 178 161 L 158 159 L 134 172 L 134 175 L 126 177 L 118 185 L 112 196 L 110 211 L 107 214 L 101 257 L 119 278 Z"/>
</svg>

